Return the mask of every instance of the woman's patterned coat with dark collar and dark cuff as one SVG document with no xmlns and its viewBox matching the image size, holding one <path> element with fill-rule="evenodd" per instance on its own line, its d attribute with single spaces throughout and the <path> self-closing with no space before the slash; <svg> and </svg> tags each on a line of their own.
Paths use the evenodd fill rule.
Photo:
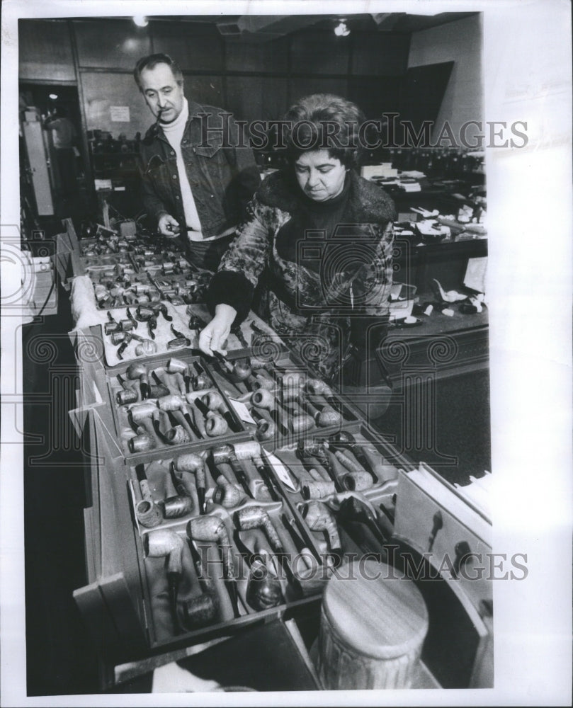
<svg viewBox="0 0 573 708">
<path fill-rule="evenodd" d="M 316 220 L 314 230 L 305 229 L 308 200 L 293 179 L 282 172 L 266 178 L 208 293 L 211 308 L 226 302 L 237 309 L 238 321 L 253 307 L 326 378 L 339 370 L 351 318 L 387 316 L 392 284 L 394 203 L 353 171 L 347 180 L 341 219 L 327 233 L 316 230 Z M 277 249 L 285 227 L 290 241 L 293 234 L 296 240 L 289 258 L 285 249 L 279 249 L 283 256 Z M 259 296 L 252 304 L 257 285 Z"/>
</svg>

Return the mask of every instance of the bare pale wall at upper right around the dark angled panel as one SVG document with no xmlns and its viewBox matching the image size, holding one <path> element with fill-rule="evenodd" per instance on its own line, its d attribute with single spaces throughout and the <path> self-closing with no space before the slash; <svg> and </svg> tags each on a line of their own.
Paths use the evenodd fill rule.
<svg viewBox="0 0 573 708">
<path fill-rule="evenodd" d="M 455 62 L 433 136 L 448 120 L 458 135 L 467 120 L 483 120 L 482 16 L 472 15 L 412 33 L 408 68 Z M 468 130 L 468 137 L 472 130 Z"/>
</svg>

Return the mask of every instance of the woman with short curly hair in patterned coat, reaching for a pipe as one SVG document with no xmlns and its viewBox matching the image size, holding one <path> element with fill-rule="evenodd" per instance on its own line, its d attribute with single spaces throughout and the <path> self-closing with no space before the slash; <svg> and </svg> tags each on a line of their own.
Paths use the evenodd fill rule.
<svg viewBox="0 0 573 708">
<path fill-rule="evenodd" d="M 358 106 L 317 93 L 285 120 L 288 166 L 263 181 L 212 278 L 207 301 L 215 316 L 199 346 L 207 354 L 222 350 L 231 327 L 254 307 L 262 279 L 257 314 L 333 379 L 351 321 L 388 314 L 395 207 L 356 172 L 364 120 Z"/>
</svg>

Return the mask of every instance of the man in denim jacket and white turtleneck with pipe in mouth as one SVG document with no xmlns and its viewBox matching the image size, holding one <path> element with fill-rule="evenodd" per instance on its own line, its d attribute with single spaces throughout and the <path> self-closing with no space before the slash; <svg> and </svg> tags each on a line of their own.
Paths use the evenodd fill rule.
<svg viewBox="0 0 573 708">
<path fill-rule="evenodd" d="M 253 152 L 234 147 L 229 113 L 187 101 L 169 55 L 140 59 L 134 77 L 157 118 L 140 143 L 144 206 L 161 234 L 183 238 L 194 265 L 214 271 L 260 183 Z"/>
</svg>

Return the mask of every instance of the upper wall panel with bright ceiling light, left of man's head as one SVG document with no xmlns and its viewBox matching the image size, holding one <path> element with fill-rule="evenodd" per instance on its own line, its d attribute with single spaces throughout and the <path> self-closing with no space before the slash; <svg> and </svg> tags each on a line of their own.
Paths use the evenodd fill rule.
<svg viewBox="0 0 573 708">
<path fill-rule="evenodd" d="M 127 69 L 151 53 L 147 28 L 129 20 L 74 20 L 80 67 Z"/>
</svg>

